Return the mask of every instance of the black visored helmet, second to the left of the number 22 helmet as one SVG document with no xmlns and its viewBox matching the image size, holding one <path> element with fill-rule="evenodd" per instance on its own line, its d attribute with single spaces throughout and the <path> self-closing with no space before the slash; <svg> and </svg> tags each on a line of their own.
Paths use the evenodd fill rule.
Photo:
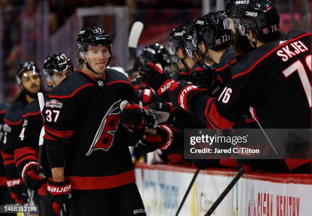
<svg viewBox="0 0 312 216">
<path fill-rule="evenodd" d="M 193 22 L 173 28 L 169 35 L 169 53 L 175 55 L 178 47 L 184 47 L 184 34 L 193 26 Z"/>
</svg>

